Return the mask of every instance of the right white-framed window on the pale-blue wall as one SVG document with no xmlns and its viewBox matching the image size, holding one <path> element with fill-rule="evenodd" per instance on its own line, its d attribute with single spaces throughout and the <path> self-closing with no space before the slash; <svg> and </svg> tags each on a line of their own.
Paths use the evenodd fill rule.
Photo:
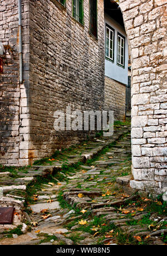
<svg viewBox="0 0 167 256">
<path fill-rule="evenodd" d="M 117 64 L 125 67 L 125 37 L 117 34 Z"/>
</svg>

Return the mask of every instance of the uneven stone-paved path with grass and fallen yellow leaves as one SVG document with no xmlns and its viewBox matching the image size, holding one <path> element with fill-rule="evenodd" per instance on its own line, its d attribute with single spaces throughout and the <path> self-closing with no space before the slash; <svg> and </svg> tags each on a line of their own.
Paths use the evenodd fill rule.
<svg viewBox="0 0 167 256">
<path fill-rule="evenodd" d="M 0 244 L 165 244 L 164 203 L 129 188 L 130 127 L 31 168 L 1 168 Z M 122 186 L 123 185 L 123 186 Z"/>
</svg>

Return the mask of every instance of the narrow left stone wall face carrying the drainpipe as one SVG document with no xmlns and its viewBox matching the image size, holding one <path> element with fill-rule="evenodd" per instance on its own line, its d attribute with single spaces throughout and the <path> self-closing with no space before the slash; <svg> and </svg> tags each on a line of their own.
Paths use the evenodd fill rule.
<svg viewBox="0 0 167 256">
<path fill-rule="evenodd" d="M 23 58 L 28 58 L 28 1 L 22 0 Z M 0 164 L 19 165 L 19 146 L 23 138 L 22 113 L 19 107 L 27 86 L 19 85 L 18 6 L 17 1 L 0 2 L 0 42 L 4 46 L 3 73 L 0 74 Z M 27 70 L 26 63 L 23 70 Z M 24 106 L 27 106 L 27 100 Z"/>
</svg>

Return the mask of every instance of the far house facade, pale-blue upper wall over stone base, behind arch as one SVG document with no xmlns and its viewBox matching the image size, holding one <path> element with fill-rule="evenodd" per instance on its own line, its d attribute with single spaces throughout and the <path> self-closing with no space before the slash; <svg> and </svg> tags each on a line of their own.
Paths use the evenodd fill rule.
<svg viewBox="0 0 167 256">
<path fill-rule="evenodd" d="M 105 19 L 105 108 L 117 120 L 125 120 L 125 94 L 128 84 L 128 43 L 122 13 L 115 1 L 104 1 Z M 112 44 L 108 42 L 108 33 Z M 118 64 L 118 35 L 124 37 L 124 60 Z M 108 51 L 108 46 L 112 56 Z"/>
</svg>

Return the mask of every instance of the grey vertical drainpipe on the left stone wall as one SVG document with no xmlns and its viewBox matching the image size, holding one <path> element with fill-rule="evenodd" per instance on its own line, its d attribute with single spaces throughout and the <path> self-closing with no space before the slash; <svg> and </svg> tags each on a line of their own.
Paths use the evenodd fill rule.
<svg viewBox="0 0 167 256">
<path fill-rule="evenodd" d="M 23 83 L 23 50 L 22 50 L 22 5 L 18 0 L 18 29 L 19 29 L 19 83 Z"/>
</svg>

